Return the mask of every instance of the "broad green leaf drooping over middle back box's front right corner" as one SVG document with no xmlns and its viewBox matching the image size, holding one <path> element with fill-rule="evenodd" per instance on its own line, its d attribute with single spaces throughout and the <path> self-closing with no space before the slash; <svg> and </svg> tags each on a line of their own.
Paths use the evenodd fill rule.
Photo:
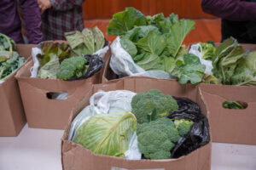
<svg viewBox="0 0 256 170">
<path fill-rule="evenodd" d="M 178 58 L 171 75 L 178 78 L 178 82 L 192 84 L 201 82 L 206 65 L 201 65 L 200 59 L 194 54 L 184 54 L 183 58 Z"/>
</svg>

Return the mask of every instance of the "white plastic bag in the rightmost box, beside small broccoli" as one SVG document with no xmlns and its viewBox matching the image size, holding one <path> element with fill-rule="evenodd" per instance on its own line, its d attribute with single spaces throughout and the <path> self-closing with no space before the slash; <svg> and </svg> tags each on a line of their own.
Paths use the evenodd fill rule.
<svg viewBox="0 0 256 170">
<path fill-rule="evenodd" d="M 189 54 L 195 54 L 195 56 L 197 56 L 200 59 L 201 64 L 206 65 L 205 73 L 212 75 L 212 69 L 213 69 L 212 61 L 207 60 L 207 59 L 202 59 L 202 57 L 201 57 L 202 56 L 202 48 L 201 48 L 200 43 L 193 44 L 191 46 L 191 48 L 189 49 Z"/>
</svg>

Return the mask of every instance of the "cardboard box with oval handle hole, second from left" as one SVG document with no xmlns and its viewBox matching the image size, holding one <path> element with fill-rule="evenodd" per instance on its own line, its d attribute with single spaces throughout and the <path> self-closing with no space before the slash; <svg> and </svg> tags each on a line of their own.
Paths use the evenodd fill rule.
<svg viewBox="0 0 256 170">
<path fill-rule="evenodd" d="M 108 59 L 107 53 L 104 59 Z M 60 79 L 31 78 L 30 60 L 20 68 L 16 78 L 20 86 L 20 94 L 24 105 L 26 120 L 29 127 L 64 129 L 70 111 L 92 84 L 102 82 L 102 67 L 92 77 L 78 81 L 62 81 Z M 67 92 L 67 99 L 49 99 L 49 93 Z"/>
</svg>

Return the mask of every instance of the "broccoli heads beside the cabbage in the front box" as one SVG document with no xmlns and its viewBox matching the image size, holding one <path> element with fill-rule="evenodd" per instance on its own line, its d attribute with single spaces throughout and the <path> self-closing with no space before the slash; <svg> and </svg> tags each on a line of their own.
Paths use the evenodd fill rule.
<svg viewBox="0 0 256 170">
<path fill-rule="evenodd" d="M 178 110 L 177 101 L 160 90 L 136 94 L 131 100 L 132 113 L 137 117 L 138 148 L 148 159 L 168 159 L 171 150 L 189 132 L 193 121 L 171 120 L 166 116 Z"/>
</svg>

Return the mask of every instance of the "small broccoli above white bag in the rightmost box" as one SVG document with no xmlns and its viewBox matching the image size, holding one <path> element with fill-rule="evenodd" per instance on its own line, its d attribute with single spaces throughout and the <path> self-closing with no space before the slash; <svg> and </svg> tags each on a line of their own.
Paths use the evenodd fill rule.
<svg viewBox="0 0 256 170">
<path fill-rule="evenodd" d="M 200 42 L 201 48 L 202 48 L 202 59 L 208 59 L 212 60 L 215 55 L 215 47 L 212 44 L 212 42 Z"/>
</svg>

